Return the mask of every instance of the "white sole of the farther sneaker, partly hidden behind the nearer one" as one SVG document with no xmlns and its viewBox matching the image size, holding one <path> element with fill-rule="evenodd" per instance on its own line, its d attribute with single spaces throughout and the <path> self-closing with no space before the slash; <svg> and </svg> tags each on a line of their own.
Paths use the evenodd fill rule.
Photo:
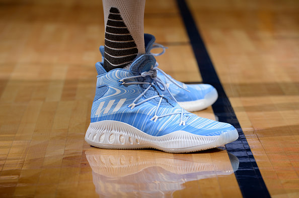
<svg viewBox="0 0 299 198">
<path fill-rule="evenodd" d="M 189 112 L 200 111 L 209 106 L 211 106 L 218 98 L 218 93 L 214 88 L 212 91 L 204 96 L 204 99 L 188 101 L 188 102 L 178 102 L 181 107 Z"/>
</svg>

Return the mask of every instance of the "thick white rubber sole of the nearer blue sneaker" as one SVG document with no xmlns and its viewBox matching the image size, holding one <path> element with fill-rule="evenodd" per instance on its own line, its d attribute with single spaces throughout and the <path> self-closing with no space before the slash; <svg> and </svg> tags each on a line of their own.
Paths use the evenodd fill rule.
<svg viewBox="0 0 299 198">
<path fill-rule="evenodd" d="M 238 139 L 237 130 L 216 136 L 194 135 L 175 131 L 163 136 L 148 135 L 119 121 L 105 120 L 90 123 L 85 140 L 92 146 L 110 149 L 156 148 L 165 152 L 184 153 L 215 148 Z"/>
</svg>

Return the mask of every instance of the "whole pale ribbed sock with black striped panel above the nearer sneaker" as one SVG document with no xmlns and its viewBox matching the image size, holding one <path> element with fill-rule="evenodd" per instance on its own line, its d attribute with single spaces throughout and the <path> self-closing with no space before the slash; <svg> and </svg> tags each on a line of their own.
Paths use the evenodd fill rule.
<svg viewBox="0 0 299 198">
<path fill-rule="evenodd" d="M 103 0 L 107 72 L 128 69 L 136 57 L 145 53 L 144 6 L 145 0 Z"/>
</svg>

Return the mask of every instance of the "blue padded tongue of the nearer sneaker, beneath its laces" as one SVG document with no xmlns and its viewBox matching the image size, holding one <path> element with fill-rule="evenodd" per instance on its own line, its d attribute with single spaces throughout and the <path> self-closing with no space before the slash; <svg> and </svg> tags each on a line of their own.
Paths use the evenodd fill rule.
<svg viewBox="0 0 299 198">
<path fill-rule="evenodd" d="M 136 59 L 131 67 L 130 67 L 130 71 L 133 73 L 134 76 L 139 76 L 142 72 L 147 72 L 149 71 L 152 67 L 155 67 L 156 64 L 156 59 L 153 55 L 149 55 L 149 54 L 144 54 L 142 56 L 140 56 L 138 59 Z M 152 83 L 153 79 L 150 76 L 145 76 L 145 77 L 139 77 L 137 78 L 138 82 L 148 82 L 148 83 Z M 148 86 L 148 84 L 139 84 L 142 91 L 144 91 Z M 152 96 L 156 96 L 156 95 L 161 95 L 162 91 L 159 88 L 154 88 L 153 86 L 148 89 L 146 91 L 146 93 L 144 94 L 144 97 L 146 98 L 150 98 Z M 155 101 L 155 102 L 159 102 L 160 97 L 154 98 L 151 101 Z M 172 103 L 172 102 L 171 102 Z M 171 105 L 167 99 L 163 98 L 161 105 Z"/>
</svg>

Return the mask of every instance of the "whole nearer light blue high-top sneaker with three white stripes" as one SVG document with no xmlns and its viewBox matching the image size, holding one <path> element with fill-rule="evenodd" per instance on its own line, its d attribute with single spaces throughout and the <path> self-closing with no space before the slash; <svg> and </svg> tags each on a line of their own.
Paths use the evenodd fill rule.
<svg viewBox="0 0 299 198">
<path fill-rule="evenodd" d="M 129 70 L 108 73 L 96 64 L 97 88 L 85 140 L 112 149 L 156 148 L 180 153 L 217 147 L 238 138 L 230 124 L 198 117 L 162 94 L 152 55 L 142 55 Z"/>
</svg>

